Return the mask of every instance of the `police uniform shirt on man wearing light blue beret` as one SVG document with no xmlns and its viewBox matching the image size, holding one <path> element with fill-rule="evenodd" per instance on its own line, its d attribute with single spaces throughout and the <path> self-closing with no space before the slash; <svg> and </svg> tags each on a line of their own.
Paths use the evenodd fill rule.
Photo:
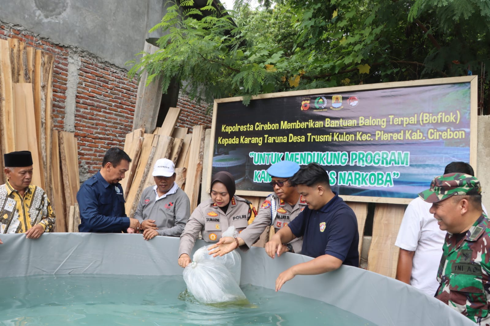
<svg viewBox="0 0 490 326">
<path fill-rule="evenodd" d="M 270 194 L 266 200 L 262 203 L 259 214 L 256 219 L 267 218 L 277 233 L 280 229 L 291 223 L 291 221 L 299 215 L 306 207 L 306 202 L 302 196 L 299 196 L 298 201 L 292 207 L 283 199 L 279 199 L 276 194 Z M 274 220 L 272 218 L 272 210 L 275 210 Z M 301 247 L 303 244 L 303 238 L 296 238 L 290 242 L 293 246 L 293 250 L 296 254 L 301 253 Z"/>
</svg>

